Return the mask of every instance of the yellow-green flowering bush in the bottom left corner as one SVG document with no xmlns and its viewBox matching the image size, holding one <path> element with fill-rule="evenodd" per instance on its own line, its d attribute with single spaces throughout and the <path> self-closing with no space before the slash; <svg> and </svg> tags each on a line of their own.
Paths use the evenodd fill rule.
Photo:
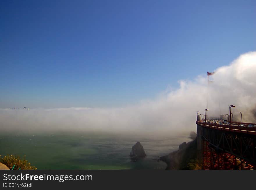
<svg viewBox="0 0 256 190">
<path fill-rule="evenodd" d="M 5 164 L 9 169 L 21 169 L 21 170 L 36 170 L 37 168 L 35 166 L 31 166 L 30 162 L 28 163 L 27 160 L 25 160 L 25 155 L 23 156 L 22 160 L 19 156 L 16 155 L 9 155 L 2 156 L 0 155 L 0 162 Z"/>
</svg>

